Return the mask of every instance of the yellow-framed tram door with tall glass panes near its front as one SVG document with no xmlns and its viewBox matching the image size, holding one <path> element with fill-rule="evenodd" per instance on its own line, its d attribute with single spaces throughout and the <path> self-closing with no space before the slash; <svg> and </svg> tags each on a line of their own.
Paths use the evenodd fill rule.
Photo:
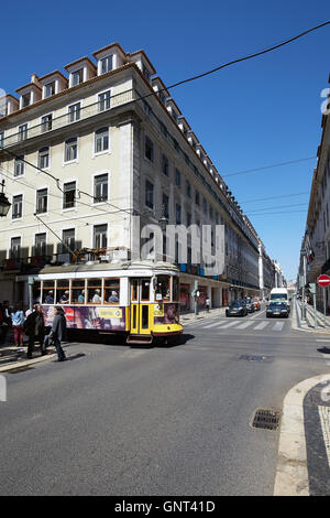
<svg viewBox="0 0 330 518">
<path fill-rule="evenodd" d="M 131 333 L 151 334 L 151 278 L 131 279 Z"/>
</svg>

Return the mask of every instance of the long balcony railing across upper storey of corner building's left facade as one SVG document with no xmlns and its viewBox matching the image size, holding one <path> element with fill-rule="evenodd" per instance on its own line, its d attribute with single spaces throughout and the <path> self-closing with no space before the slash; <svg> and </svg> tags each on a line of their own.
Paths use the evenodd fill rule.
<svg viewBox="0 0 330 518">
<path fill-rule="evenodd" d="M 106 111 L 110 111 L 113 108 L 117 108 L 119 106 L 136 100 L 138 98 L 139 98 L 139 95 L 136 90 L 130 89 L 121 94 L 111 96 L 109 99 L 107 99 L 110 102 L 107 102 L 105 100 L 98 100 L 97 102 L 81 107 L 79 109 L 79 118 L 77 120 L 73 120 L 75 118 L 73 118 L 73 114 L 70 112 L 64 114 L 63 116 L 56 117 L 54 119 L 48 119 L 44 122 L 41 122 L 40 125 L 29 128 L 28 130 L 24 131 L 24 134 L 22 132 L 18 132 L 18 133 L 6 137 L 4 139 L 1 140 L 0 151 L 1 151 L 1 148 L 2 149 L 10 148 L 11 145 L 15 145 L 18 143 L 22 144 L 25 140 L 30 140 L 40 136 L 45 136 L 46 133 L 50 133 L 51 131 L 66 128 L 68 126 L 74 126 L 78 122 L 81 122 L 82 120 L 89 119 L 90 117 L 100 115 Z"/>
</svg>

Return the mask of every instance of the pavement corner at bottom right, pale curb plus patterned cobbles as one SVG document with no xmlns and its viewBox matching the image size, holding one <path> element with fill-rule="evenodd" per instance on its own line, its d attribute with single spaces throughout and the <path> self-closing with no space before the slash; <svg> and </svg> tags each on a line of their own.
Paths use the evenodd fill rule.
<svg viewBox="0 0 330 518">
<path fill-rule="evenodd" d="M 330 495 L 330 375 L 284 398 L 274 496 Z"/>
</svg>

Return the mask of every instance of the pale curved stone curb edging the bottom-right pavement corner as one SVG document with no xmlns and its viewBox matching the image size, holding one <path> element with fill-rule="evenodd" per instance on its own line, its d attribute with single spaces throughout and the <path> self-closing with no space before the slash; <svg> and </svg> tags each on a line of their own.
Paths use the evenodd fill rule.
<svg viewBox="0 0 330 518">
<path fill-rule="evenodd" d="M 293 387 L 284 398 L 274 496 L 309 496 L 304 398 L 330 375 L 319 375 Z"/>
</svg>

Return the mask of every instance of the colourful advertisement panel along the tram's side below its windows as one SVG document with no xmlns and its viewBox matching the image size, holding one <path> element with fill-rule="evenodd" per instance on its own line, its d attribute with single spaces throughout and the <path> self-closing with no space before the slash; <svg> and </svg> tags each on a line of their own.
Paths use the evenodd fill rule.
<svg viewBox="0 0 330 518">
<path fill-rule="evenodd" d="M 125 331 L 125 307 L 64 306 L 68 328 Z M 54 320 L 54 306 L 43 306 L 45 325 Z"/>
</svg>

